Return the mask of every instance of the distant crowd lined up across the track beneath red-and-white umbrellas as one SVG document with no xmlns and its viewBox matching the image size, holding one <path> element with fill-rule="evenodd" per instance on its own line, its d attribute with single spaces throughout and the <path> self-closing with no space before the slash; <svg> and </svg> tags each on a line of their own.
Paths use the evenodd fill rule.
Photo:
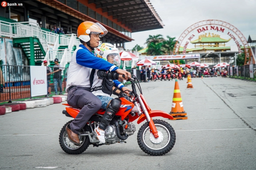
<svg viewBox="0 0 256 170">
<path fill-rule="evenodd" d="M 147 74 L 147 76 L 146 76 Z M 158 69 L 150 69 L 150 66 L 142 66 L 140 69 L 140 77 L 142 82 L 146 81 L 162 81 L 162 80 L 173 80 L 173 79 L 180 79 L 187 78 L 188 75 L 191 78 L 198 78 L 198 77 L 217 77 L 221 76 L 222 78 L 228 77 L 228 71 L 225 68 L 218 69 L 218 68 L 200 68 L 200 67 L 188 67 L 185 68 L 166 68 L 161 67 Z M 147 77 L 147 80 L 146 80 Z M 166 79 L 165 79 L 166 77 Z M 170 77 L 170 78 L 169 78 Z"/>
</svg>

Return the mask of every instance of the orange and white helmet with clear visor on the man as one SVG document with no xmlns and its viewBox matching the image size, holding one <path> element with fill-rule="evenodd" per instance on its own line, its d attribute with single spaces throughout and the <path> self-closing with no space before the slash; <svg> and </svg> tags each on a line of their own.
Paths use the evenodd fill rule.
<svg viewBox="0 0 256 170">
<path fill-rule="evenodd" d="M 89 34 L 100 34 L 100 37 L 104 37 L 107 33 L 108 30 L 98 22 L 85 21 L 77 28 L 77 37 L 84 42 L 90 41 Z"/>
</svg>

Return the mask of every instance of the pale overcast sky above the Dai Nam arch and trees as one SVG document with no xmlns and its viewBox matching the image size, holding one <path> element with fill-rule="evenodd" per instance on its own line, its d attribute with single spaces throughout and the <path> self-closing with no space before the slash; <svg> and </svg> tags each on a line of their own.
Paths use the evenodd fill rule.
<svg viewBox="0 0 256 170">
<path fill-rule="evenodd" d="M 256 0 L 150 0 L 162 19 L 164 28 L 132 33 L 134 41 L 125 43 L 126 49 L 136 44 L 146 47 L 148 35 L 162 34 L 179 38 L 189 26 L 202 20 L 222 20 L 238 28 L 248 40 L 249 34 L 256 34 Z M 196 33 L 196 31 L 195 31 Z M 228 36 L 221 35 L 228 39 Z M 198 39 L 200 34 L 196 34 Z M 230 41 L 231 42 L 231 41 Z M 232 42 L 233 43 L 233 42 Z"/>
</svg>

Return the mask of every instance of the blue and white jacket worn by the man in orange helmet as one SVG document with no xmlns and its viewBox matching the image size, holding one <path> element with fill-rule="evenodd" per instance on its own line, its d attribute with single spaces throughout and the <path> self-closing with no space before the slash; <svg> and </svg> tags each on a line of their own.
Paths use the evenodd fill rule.
<svg viewBox="0 0 256 170">
<path fill-rule="evenodd" d="M 74 51 L 71 61 L 68 67 L 67 86 L 82 86 L 90 88 L 90 68 L 115 71 L 118 69 L 115 65 L 108 61 L 95 57 L 95 55 L 89 51 L 84 45 L 80 44 Z M 120 89 L 124 87 L 119 81 L 114 81 L 117 87 Z"/>
</svg>

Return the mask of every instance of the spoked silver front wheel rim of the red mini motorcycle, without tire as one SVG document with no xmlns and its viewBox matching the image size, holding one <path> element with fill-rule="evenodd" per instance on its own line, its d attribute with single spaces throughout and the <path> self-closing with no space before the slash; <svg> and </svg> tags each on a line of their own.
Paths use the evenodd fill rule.
<svg viewBox="0 0 256 170">
<path fill-rule="evenodd" d="M 143 142 L 150 149 L 160 150 L 169 144 L 171 136 L 169 130 L 164 125 L 155 124 L 155 126 L 159 137 L 155 139 L 154 135 L 150 132 L 150 128 L 147 127 L 143 132 Z"/>
</svg>

